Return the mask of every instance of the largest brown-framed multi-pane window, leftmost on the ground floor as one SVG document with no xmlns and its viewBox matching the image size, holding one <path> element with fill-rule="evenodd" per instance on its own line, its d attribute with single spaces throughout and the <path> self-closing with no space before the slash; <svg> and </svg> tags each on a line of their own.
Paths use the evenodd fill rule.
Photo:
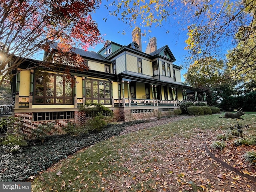
<svg viewBox="0 0 256 192">
<path fill-rule="evenodd" d="M 71 81 L 66 76 L 36 72 L 34 104 L 73 104 Z"/>
</svg>

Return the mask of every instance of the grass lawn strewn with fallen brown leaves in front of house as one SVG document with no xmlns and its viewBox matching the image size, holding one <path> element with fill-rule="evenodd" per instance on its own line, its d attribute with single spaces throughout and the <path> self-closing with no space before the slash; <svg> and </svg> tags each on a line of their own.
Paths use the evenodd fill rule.
<svg viewBox="0 0 256 192">
<path fill-rule="evenodd" d="M 243 118 L 240 126 L 249 126 L 244 136 L 255 135 L 256 115 Z M 256 182 L 214 161 L 204 148 L 206 143 L 216 157 L 256 178 L 255 166 L 242 158 L 255 146 L 234 146 L 234 137 L 222 152 L 210 148 L 235 124 L 217 115 L 196 116 L 115 136 L 54 164 L 32 181 L 32 191 L 253 192 Z"/>
</svg>

